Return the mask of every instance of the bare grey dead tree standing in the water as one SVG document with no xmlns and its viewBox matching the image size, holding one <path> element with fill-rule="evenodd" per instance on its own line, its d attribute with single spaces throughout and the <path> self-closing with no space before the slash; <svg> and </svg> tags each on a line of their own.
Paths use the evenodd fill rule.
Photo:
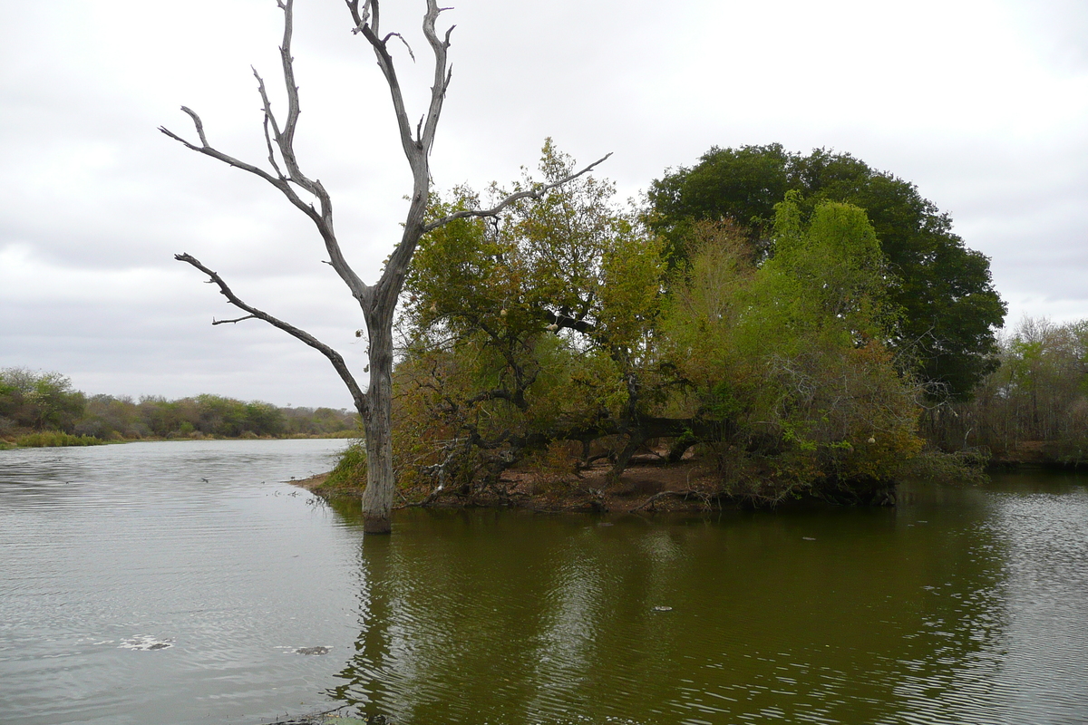
<svg viewBox="0 0 1088 725">
<path fill-rule="evenodd" d="M 549 189 L 585 174 L 608 157 L 599 159 L 578 173 L 555 184 L 540 186 L 512 195 L 492 209 L 461 211 L 445 218 L 426 222 L 425 212 L 431 182 L 430 153 L 434 146 L 434 135 L 438 126 L 438 117 L 442 114 L 442 103 L 446 97 L 446 90 L 449 88 L 452 77 L 447 52 L 449 49 L 449 37 L 454 28 L 450 26 L 441 36 L 435 29 L 435 23 L 438 20 L 440 13 L 447 9 L 438 8 L 436 0 L 426 0 L 426 12 L 423 15 L 423 35 L 426 37 L 428 43 L 431 46 L 434 54 L 434 85 L 431 87 L 431 99 L 426 113 L 420 118 L 413 129 L 408 111 L 405 108 L 400 83 L 397 79 L 396 68 L 388 47 L 390 41 L 394 38 L 404 41 L 403 36 L 398 33 L 381 34 L 379 29 L 379 0 L 364 0 L 361 7 L 359 0 L 345 1 L 351 15 L 351 33 L 361 35 L 367 40 L 378 58 L 378 65 L 382 74 L 385 76 L 390 93 L 393 98 L 393 110 L 397 120 L 400 146 L 404 149 L 413 178 L 412 193 L 409 201 L 408 215 L 404 224 L 404 233 L 401 234 L 400 241 L 397 242 L 393 253 L 390 255 L 381 277 L 375 284 L 368 285 L 363 283 L 348 264 L 334 232 L 333 208 L 329 192 L 321 185 L 321 182 L 311 179 L 302 173 L 295 155 L 294 142 L 295 130 L 298 126 L 299 104 L 298 87 L 295 85 L 295 72 L 290 54 L 294 0 L 276 0 L 276 4 L 284 13 L 283 43 L 280 47 L 280 58 L 283 65 L 284 86 L 287 91 L 287 115 L 282 123 L 272 112 L 272 104 L 264 88 L 264 80 L 257 73 L 256 68 L 254 70 L 254 76 L 257 78 L 257 89 L 264 110 L 264 140 L 269 152 L 268 161 L 270 170 L 235 159 L 211 146 L 208 142 L 200 116 L 184 105 L 182 107 L 182 111 L 187 113 L 193 120 L 199 141 L 190 142 L 164 127 L 160 127 L 159 130 L 194 151 L 209 155 L 212 159 L 218 159 L 223 163 L 236 166 L 264 179 L 279 189 L 292 204 L 306 214 L 313 222 L 314 226 L 317 226 L 318 233 L 324 241 L 325 251 L 329 254 L 329 264 L 332 265 L 336 274 L 344 280 L 351 296 L 362 309 L 369 336 L 367 352 L 370 363 L 370 384 L 366 392 L 362 391 L 355 376 L 351 374 L 343 355 L 334 349 L 321 342 L 306 330 L 299 329 L 283 320 L 247 304 L 231 290 L 222 277 L 205 266 L 193 255 L 177 254 L 175 259 L 186 262 L 208 275 L 211 283 L 219 287 L 219 291 L 226 297 L 231 304 L 247 313 L 245 316 L 236 320 L 223 320 L 213 324 L 224 322 L 236 323 L 249 318 L 263 320 L 309 345 L 329 359 L 336 373 L 341 376 L 341 379 L 344 380 L 344 384 L 351 392 L 351 399 L 355 401 L 356 409 L 363 421 L 363 435 L 367 447 L 367 489 L 362 497 L 363 530 L 369 534 L 386 534 L 391 530 L 390 513 L 393 505 L 393 492 L 396 486 L 393 472 L 391 436 L 393 316 L 397 299 L 404 287 L 405 274 L 411 263 L 412 254 L 416 252 L 416 247 L 420 238 L 428 232 L 447 224 L 455 218 L 495 216 L 507 205 L 519 199 L 540 199 Z"/>
</svg>

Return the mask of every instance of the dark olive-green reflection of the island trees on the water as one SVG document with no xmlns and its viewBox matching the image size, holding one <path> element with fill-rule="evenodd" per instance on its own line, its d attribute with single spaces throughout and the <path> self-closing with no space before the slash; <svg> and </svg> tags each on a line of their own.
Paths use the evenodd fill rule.
<svg viewBox="0 0 1088 725">
<path fill-rule="evenodd" d="M 362 542 L 329 695 L 401 724 L 1004 722 L 1003 545 L 981 492 L 944 496 L 613 526 L 400 512 Z"/>
</svg>

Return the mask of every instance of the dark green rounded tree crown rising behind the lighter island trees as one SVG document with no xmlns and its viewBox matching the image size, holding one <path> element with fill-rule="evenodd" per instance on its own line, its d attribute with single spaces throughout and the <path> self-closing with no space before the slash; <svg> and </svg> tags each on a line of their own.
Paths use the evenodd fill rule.
<svg viewBox="0 0 1088 725">
<path fill-rule="evenodd" d="M 691 167 L 652 185 L 647 222 L 682 257 L 682 239 L 702 220 L 744 227 L 754 253 L 769 253 L 775 204 L 796 191 L 807 218 L 826 201 L 863 209 L 887 260 L 888 296 L 902 310 L 890 347 L 929 383 L 931 398 L 969 397 L 996 366 L 994 329 L 1005 305 L 989 260 L 968 249 L 952 221 L 917 188 L 845 153 L 791 153 L 775 143 L 714 148 Z"/>
</svg>

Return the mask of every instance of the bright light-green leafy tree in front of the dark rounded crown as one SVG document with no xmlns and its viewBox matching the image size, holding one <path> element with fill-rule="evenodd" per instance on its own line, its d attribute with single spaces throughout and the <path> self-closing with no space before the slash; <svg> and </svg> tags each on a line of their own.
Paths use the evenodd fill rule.
<svg viewBox="0 0 1088 725">
<path fill-rule="evenodd" d="M 730 495 L 882 501 L 920 448 L 915 387 L 882 342 L 885 258 L 861 209 L 824 202 L 805 222 L 798 201 L 777 205 L 763 264 L 737 227 L 692 226 L 662 325 L 687 383 L 673 404 L 717 430 Z"/>
</svg>

